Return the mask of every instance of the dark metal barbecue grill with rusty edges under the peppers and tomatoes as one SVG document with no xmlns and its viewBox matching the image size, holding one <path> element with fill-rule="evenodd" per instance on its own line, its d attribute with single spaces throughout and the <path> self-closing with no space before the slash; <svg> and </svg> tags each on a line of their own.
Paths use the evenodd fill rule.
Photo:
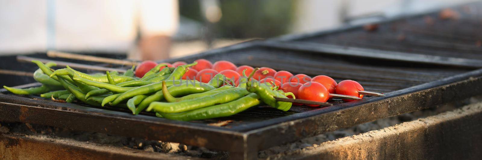
<svg viewBox="0 0 482 160">
<path fill-rule="evenodd" d="M 132 115 L 111 107 L 58 103 L 1 90 L 0 119 L 83 131 L 179 142 L 229 151 L 233 159 L 255 159 L 261 149 L 356 124 L 435 107 L 482 94 L 482 48 L 476 32 L 481 3 L 455 8 L 458 19 L 441 20 L 438 12 L 379 22 L 375 31 L 362 25 L 328 32 L 250 41 L 166 62 L 228 60 L 237 65 L 270 67 L 294 74 L 352 79 L 369 97 L 334 106 L 293 106 L 283 112 L 257 107 L 212 120 L 179 122 L 150 112 Z M 427 17 L 434 23 L 428 24 Z M 399 38 L 403 35 L 404 39 Z M 467 35 L 467 36 L 464 36 Z M 38 86 L 27 84 L 20 87 Z M 206 125 L 233 120 L 227 126 Z"/>
</svg>

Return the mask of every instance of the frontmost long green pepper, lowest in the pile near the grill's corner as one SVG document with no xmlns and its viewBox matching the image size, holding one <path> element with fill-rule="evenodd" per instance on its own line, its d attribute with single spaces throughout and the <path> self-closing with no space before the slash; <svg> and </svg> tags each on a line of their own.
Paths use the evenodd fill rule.
<svg viewBox="0 0 482 160">
<path fill-rule="evenodd" d="M 230 101 L 224 104 L 218 104 L 210 107 L 200 108 L 192 111 L 185 111 L 180 113 L 163 113 L 159 112 L 162 117 L 179 120 L 179 121 L 193 121 L 204 120 L 217 117 L 227 117 L 245 111 L 251 107 L 259 105 L 259 97 L 255 93 L 250 93 L 237 100 Z"/>
</svg>

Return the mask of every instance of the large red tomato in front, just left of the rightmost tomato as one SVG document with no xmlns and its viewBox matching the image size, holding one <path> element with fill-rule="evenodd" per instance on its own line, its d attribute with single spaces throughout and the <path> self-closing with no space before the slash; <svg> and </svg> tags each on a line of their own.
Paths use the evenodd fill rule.
<svg viewBox="0 0 482 160">
<path fill-rule="evenodd" d="M 314 101 L 319 101 L 319 102 L 326 102 L 328 98 L 330 98 L 328 95 L 330 93 L 326 89 L 325 86 L 321 85 L 318 82 L 307 82 L 303 84 L 298 89 L 298 97 L 299 99 L 306 99 L 306 100 L 314 100 Z M 307 106 L 310 107 L 318 107 L 320 105 L 314 105 L 314 104 L 307 104 Z"/>
</svg>

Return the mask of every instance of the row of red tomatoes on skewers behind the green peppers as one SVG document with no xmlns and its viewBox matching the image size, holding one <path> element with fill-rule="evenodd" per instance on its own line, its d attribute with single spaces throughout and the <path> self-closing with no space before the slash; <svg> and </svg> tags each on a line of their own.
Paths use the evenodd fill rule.
<svg viewBox="0 0 482 160">
<path fill-rule="evenodd" d="M 211 63 L 205 59 L 199 59 L 197 65 L 192 66 L 183 75 L 183 79 L 196 79 L 200 82 L 209 82 L 215 74 L 223 74 L 233 80 L 235 85 L 239 85 L 239 80 L 242 71 L 246 69 L 246 75 L 251 74 L 254 68 L 247 65 L 237 67 L 232 62 L 217 61 Z M 165 63 L 168 67 L 177 67 L 179 65 L 187 64 L 186 62 L 174 62 L 173 64 Z M 136 69 L 136 76 L 142 77 L 147 71 L 156 66 L 156 62 L 145 61 L 142 62 Z M 162 68 L 161 68 L 162 69 Z M 292 92 L 296 98 L 326 102 L 329 99 L 329 94 L 341 94 L 348 96 L 356 96 L 362 98 L 363 95 L 358 94 L 363 87 L 356 81 L 344 80 L 340 83 L 326 75 L 318 75 L 313 78 L 306 74 L 293 75 L 288 71 L 276 71 L 268 67 L 261 67 L 257 70 L 253 78 L 259 80 L 261 83 L 270 82 L 278 86 L 284 92 Z M 289 97 L 291 98 L 291 96 Z M 344 99 L 345 101 L 351 101 Z M 294 103 L 295 105 L 302 105 Z M 317 105 L 308 105 L 316 107 Z"/>
</svg>

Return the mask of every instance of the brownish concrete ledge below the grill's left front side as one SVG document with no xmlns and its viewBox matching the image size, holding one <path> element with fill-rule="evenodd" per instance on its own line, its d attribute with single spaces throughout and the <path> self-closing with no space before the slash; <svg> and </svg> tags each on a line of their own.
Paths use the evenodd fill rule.
<svg viewBox="0 0 482 160">
<path fill-rule="evenodd" d="M 198 160 L 49 135 L 0 135 L 1 160 Z"/>
</svg>

